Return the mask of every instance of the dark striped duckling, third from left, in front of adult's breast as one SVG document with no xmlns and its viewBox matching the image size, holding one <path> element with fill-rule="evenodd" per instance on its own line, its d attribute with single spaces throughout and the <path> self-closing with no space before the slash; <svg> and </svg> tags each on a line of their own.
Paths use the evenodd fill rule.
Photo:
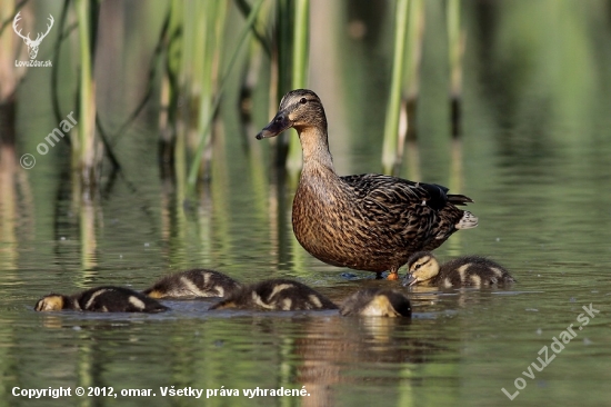
<svg viewBox="0 0 611 407">
<path fill-rule="evenodd" d="M 320 310 L 338 309 L 330 299 L 304 284 L 278 278 L 242 287 L 210 309 Z"/>
</svg>

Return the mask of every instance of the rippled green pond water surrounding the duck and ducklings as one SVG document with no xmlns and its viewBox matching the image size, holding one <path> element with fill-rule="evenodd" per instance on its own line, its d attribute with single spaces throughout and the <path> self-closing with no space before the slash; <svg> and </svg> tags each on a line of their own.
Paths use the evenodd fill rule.
<svg viewBox="0 0 611 407">
<path fill-rule="evenodd" d="M 241 169 L 223 163 L 214 171 L 227 171 L 226 178 L 214 177 L 201 201 L 184 212 L 172 204 L 173 191 L 158 185 L 134 193 L 118 181 L 113 193 L 90 204 L 97 232 L 89 255 L 83 246 L 92 244 L 79 240 L 78 225 L 90 215 L 69 195 L 59 215 L 21 218 L 18 241 L 2 250 L 1 397 L 10 405 L 106 405 L 114 401 L 31 401 L 11 391 L 14 386 L 108 386 L 152 389 L 157 397 L 146 401 L 151 405 L 199 405 L 190 397 L 161 397 L 160 388 L 241 393 L 306 386 L 310 396 L 217 396 L 207 405 L 501 405 L 509 403 L 501 388 L 513 395 L 518 385 L 521 405 L 604 405 L 611 287 L 609 230 L 601 226 L 610 212 L 601 202 L 611 197 L 602 187 L 607 173 L 590 168 L 607 166 L 610 146 L 582 155 L 559 149 L 553 157 L 518 161 L 515 169 L 507 162 L 512 157 L 478 157 L 472 142 L 467 137 L 461 146 L 462 182 L 477 201 L 472 210 L 480 227 L 457 234 L 439 254 L 490 256 L 519 282 L 508 289 L 405 289 L 414 309 L 411 321 L 340 318 L 333 311 L 209 314 L 210 301 L 169 301 L 172 310 L 154 316 L 32 310 L 49 291 L 101 284 L 144 288 L 192 266 L 243 281 L 293 277 L 338 301 L 358 288 L 394 285 L 367 272 L 347 278 L 342 272 L 349 270 L 306 254 L 290 232 L 291 188 L 278 199 L 282 188 L 273 176 L 266 180 L 267 192 L 253 198 L 254 175 L 234 176 Z M 490 160 L 498 167 L 491 169 Z M 485 173 L 482 182 L 478 173 Z M 56 224 L 51 235 L 38 231 L 44 222 Z M 600 314 L 579 330 L 577 318 L 590 304 Z M 553 338 L 570 325 L 577 337 L 542 371 L 531 367 L 533 378 L 524 376 L 531 363 L 541 366 L 537 358 L 544 346 L 549 357 L 554 355 Z"/>
</svg>

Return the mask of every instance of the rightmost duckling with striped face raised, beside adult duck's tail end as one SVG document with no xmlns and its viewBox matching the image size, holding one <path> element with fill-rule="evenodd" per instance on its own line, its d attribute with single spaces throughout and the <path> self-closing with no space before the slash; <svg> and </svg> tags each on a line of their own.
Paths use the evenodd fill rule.
<svg viewBox="0 0 611 407">
<path fill-rule="evenodd" d="M 481 287 L 514 281 L 515 279 L 503 266 L 484 257 L 459 257 L 440 267 L 432 252 L 420 251 L 408 260 L 408 274 L 403 278 L 403 286 L 429 284 L 445 288 Z"/>
</svg>

